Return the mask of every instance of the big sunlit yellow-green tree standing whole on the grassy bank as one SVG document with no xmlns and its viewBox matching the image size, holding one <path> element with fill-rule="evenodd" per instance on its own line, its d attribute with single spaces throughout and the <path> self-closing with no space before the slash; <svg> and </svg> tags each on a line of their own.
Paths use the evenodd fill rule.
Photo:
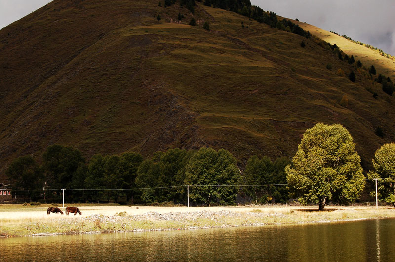
<svg viewBox="0 0 395 262">
<path fill-rule="evenodd" d="M 318 123 L 306 130 L 285 172 L 300 203 L 318 203 L 319 210 L 329 200 L 354 202 L 365 186 L 353 138 L 340 124 Z"/>
</svg>

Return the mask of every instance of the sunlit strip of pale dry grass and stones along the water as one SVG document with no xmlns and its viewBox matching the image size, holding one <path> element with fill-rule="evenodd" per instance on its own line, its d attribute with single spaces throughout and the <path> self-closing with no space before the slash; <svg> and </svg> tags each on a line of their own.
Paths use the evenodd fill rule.
<svg viewBox="0 0 395 262">
<path fill-rule="evenodd" d="M 82 215 L 43 215 L 45 207 L 0 206 L 0 238 L 302 225 L 395 218 L 387 207 L 300 206 L 147 207 L 81 206 Z M 312 210 L 314 209 L 314 210 Z M 123 211 L 121 211 L 123 210 Z M 85 215 L 85 213 L 87 213 Z M 18 214 L 18 215 L 16 215 Z M 15 216 L 12 216 L 15 215 Z"/>
</svg>

